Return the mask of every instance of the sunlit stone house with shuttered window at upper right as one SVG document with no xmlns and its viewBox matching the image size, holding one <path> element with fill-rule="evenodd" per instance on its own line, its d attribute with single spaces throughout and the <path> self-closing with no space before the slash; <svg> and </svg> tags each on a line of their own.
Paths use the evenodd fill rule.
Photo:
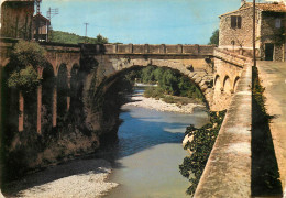
<svg viewBox="0 0 286 198">
<path fill-rule="evenodd" d="M 256 3 L 256 55 L 265 61 L 286 61 L 285 2 Z M 253 3 L 220 15 L 220 48 L 252 54 Z"/>
</svg>

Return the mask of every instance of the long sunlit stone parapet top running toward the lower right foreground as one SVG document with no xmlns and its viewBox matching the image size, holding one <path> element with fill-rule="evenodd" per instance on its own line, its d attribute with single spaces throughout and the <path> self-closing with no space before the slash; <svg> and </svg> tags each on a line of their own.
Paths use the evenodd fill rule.
<svg viewBox="0 0 286 198">
<path fill-rule="evenodd" d="M 195 197 L 251 197 L 252 65 L 243 68 Z"/>
</svg>

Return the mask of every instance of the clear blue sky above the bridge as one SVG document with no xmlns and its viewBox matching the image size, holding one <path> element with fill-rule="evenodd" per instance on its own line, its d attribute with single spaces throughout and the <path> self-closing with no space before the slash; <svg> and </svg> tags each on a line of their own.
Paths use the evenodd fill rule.
<svg viewBox="0 0 286 198">
<path fill-rule="evenodd" d="M 41 12 L 58 8 L 53 29 L 98 34 L 110 43 L 207 44 L 219 15 L 239 9 L 241 0 L 43 0 Z"/>
</svg>

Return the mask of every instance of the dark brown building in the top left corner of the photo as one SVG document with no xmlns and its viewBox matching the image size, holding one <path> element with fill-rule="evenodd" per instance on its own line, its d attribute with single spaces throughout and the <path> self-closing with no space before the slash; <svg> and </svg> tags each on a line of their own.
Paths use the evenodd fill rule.
<svg viewBox="0 0 286 198">
<path fill-rule="evenodd" d="M 34 0 L 6 0 L 1 4 L 1 37 L 32 38 Z"/>
</svg>

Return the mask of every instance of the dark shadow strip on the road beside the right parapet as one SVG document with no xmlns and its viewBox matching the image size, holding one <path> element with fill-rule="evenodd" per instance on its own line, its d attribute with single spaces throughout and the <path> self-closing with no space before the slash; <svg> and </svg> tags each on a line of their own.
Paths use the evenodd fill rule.
<svg viewBox="0 0 286 198">
<path fill-rule="evenodd" d="M 270 129 L 271 116 L 264 105 L 264 88 L 253 67 L 252 85 L 252 196 L 282 197 L 282 184 Z"/>
</svg>

